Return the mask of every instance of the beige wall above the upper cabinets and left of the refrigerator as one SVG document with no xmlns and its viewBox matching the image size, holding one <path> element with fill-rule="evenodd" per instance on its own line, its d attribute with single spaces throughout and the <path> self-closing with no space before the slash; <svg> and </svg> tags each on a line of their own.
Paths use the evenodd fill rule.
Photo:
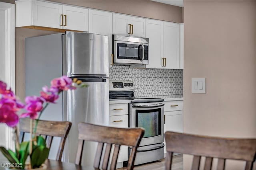
<svg viewBox="0 0 256 170">
<path fill-rule="evenodd" d="M 5 1 L 6 2 L 6 1 Z M 7 1 L 14 3 L 14 1 Z M 112 12 L 120 12 L 135 16 L 154 18 L 158 20 L 166 20 L 181 23 L 182 8 L 147 0 L 138 1 L 121 1 L 121 0 L 57 0 L 56 2 L 72 4 L 77 6 L 85 6 L 89 8 L 107 10 Z M 16 28 L 16 95 L 22 100 L 25 98 L 25 57 L 24 57 L 24 39 L 26 37 L 34 37 L 40 35 L 53 34 L 57 32 L 41 31 L 28 28 Z M 39 92 L 38 92 L 39 93 Z"/>
</svg>

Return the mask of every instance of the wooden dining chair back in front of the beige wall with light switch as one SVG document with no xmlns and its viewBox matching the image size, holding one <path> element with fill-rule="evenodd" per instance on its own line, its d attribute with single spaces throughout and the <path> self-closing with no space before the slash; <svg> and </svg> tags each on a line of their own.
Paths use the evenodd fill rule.
<svg viewBox="0 0 256 170">
<path fill-rule="evenodd" d="M 194 155 L 192 170 L 199 170 L 205 156 L 204 170 L 211 170 L 212 159 L 218 158 L 218 170 L 224 170 L 226 159 L 245 160 L 245 170 L 252 170 L 256 158 L 256 139 L 230 139 L 166 132 L 166 165 L 170 170 L 173 152 Z"/>
</svg>

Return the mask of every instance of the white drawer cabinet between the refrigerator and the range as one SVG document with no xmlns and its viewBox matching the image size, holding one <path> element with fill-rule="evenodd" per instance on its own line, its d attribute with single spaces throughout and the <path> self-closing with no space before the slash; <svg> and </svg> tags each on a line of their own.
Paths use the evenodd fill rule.
<svg viewBox="0 0 256 170">
<path fill-rule="evenodd" d="M 110 104 L 110 127 L 128 128 L 128 103 Z M 111 155 L 113 154 L 112 147 Z M 116 168 L 121 168 L 124 161 L 128 161 L 128 146 L 121 146 L 118 154 Z M 110 160 L 111 162 L 111 160 Z"/>
</svg>

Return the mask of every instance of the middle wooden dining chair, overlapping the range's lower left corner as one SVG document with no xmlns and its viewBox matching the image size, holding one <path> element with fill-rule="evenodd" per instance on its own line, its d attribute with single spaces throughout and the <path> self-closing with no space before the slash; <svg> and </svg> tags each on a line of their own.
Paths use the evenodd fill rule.
<svg viewBox="0 0 256 170">
<path fill-rule="evenodd" d="M 112 161 L 110 164 L 110 170 L 116 169 L 116 162 L 117 162 L 120 146 L 127 145 L 132 147 L 132 152 L 128 160 L 127 169 L 133 170 L 136 151 L 140 144 L 140 140 L 144 135 L 144 129 L 116 128 L 116 127 L 92 125 L 89 123 L 79 123 L 78 131 L 79 131 L 78 133 L 79 142 L 78 142 L 78 149 L 76 154 L 76 164 L 81 165 L 84 141 L 94 141 L 94 142 L 98 142 L 98 147 L 97 147 L 96 155 L 94 158 L 94 168 L 100 168 L 101 161 L 103 162 L 102 169 L 106 170 L 108 168 L 111 148 L 112 148 L 112 145 L 114 145 L 114 152 L 113 152 Z M 106 145 L 106 149 L 105 149 L 104 157 L 102 159 L 104 144 Z"/>
</svg>

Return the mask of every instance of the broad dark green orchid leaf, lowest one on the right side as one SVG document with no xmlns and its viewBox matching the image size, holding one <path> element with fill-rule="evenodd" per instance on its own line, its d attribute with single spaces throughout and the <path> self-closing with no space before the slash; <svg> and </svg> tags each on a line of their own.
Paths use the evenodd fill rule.
<svg viewBox="0 0 256 170">
<path fill-rule="evenodd" d="M 32 168 L 38 168 L 44 163 L 44 161 L 48 158 L 50 149 L 45 146 L 38 146 L 33 150 L 31 159 Z"/>
</svg>

